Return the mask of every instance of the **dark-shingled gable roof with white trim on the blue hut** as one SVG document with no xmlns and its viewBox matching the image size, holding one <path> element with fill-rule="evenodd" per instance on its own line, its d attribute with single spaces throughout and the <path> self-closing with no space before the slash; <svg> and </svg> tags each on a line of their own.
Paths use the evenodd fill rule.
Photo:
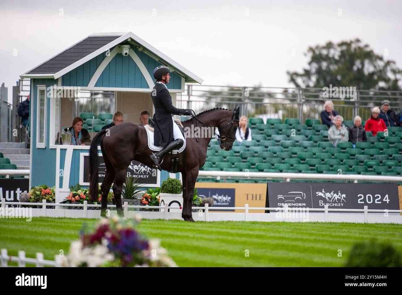
<svg viewBox="0 0 402 295">
<path fill-rule="evenodd" d="M 155 47 L 151 46 L 137 35 L 127 33 L 93 33 L 78 41 L 66 50 L 51 57 L 35 68 L 21 75 L 24 78 L 53 78 L 57 79 L 69 71 L 79 67 L 86 61 L 96 57 L 100 53 L 120 44 L 127 43 L 136 46 L 155 60 L 170 67 L 174 72 L 185 78 L 188 83 L 202 83 L 203 79 L 176 63 Z"/>
</svg>

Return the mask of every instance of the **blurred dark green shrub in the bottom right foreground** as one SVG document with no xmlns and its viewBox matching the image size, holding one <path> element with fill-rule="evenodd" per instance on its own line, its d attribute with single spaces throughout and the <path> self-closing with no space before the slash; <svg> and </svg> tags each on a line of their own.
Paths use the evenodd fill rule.
<svg viewBox="0 0 402 295">
<path fill-rule="evenodd" d="M 353 246 L 345 267 L 401 267 L 400 252 L 392 245 L 376 240 Z"/>
</svg>

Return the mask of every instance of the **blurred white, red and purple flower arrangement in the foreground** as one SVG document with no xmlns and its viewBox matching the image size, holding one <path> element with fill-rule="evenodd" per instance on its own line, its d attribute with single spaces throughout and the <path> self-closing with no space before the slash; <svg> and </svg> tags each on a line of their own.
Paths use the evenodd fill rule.
<svg viewBox="0 0 402 295">
<path fill-rule="evenodd" d="M 139 220 L 102 219 L 84 226 L 80 240 L 62 258 L 64 267 L 177 267 L 159 240 L 148 240 L 135 229 Z"/>
</svg>

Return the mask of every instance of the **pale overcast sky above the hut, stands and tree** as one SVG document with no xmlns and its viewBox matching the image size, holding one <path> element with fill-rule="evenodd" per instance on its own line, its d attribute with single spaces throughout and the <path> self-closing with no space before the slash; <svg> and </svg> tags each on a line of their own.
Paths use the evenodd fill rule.
<svg viewBox="0 0 402 295">
<path fill-rule="evenodd" d="M 77 41 L 131 31 L 205 85 L 291 87 L 286 71 L 327 41 L 360 38 L 402 67 L 401 15 L 386 0 L 0 0 L 0 83 L 10 101 L 19 75 Z"/>
</svg>

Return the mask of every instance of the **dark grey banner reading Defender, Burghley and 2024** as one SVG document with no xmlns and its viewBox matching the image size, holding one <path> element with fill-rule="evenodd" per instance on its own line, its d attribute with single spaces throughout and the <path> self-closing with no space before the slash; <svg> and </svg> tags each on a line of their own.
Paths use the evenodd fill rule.
<svg viewBox="0 0 402 295">
<path fill-rule="evenodd" d="M 269 207 L 399 210 L 395 183 L 286 183 L 269 182 Z"/>
</svg>

